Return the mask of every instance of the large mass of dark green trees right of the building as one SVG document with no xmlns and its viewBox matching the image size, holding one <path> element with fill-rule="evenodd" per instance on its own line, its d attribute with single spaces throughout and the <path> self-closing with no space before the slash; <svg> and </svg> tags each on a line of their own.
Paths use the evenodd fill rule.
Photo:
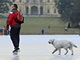
<svg viewBox="0 0 80 60">
<path fill-rule="evenodd" d="M 64 22 L 71 23 L 72 27 L 79 27 L 80 0 L 54 0 L 58 12 Z"/>
</svg>

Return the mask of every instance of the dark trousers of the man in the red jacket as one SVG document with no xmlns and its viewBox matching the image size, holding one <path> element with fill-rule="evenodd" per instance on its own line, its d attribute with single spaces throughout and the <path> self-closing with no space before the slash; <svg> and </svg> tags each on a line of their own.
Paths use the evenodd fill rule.
<svg viewBox="0 0 80 60">
<path fill-rule="evenodd" d="M 19 42 L 20 42 L 20 29 L 21 26 L 18 24 L 15 24 L 13 26 L 11 26 L 11 30 L 10 30 L 10 37 L 13 43 L 13 46 L 15 49 L 19 48 Z"/>
</svg>

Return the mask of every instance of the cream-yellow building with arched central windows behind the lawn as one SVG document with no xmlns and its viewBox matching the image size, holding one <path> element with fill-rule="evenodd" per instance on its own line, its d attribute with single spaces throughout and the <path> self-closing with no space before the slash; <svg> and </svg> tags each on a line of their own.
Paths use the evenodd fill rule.
<svg viewBox="0 0 80 60">
<path fill-rule="evenodd" d="M 12 0 L 24 15 L 59 16 L 54 0 Z"/>
</svg>

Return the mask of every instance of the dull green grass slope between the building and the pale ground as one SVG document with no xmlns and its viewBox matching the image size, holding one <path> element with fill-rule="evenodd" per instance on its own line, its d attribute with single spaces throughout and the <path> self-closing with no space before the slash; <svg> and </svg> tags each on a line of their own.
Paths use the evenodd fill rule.
<svg viewBox="0 0 80 60">
<path fill-rule="evenodd" d="M 3 27 L 7 18 L 0 19 L 0 27 Z M 26 17 L 22 24 L 21 34 L 41 34 L 41 29 L 45 29 L 45 34 L 78 34 L 77 28 L 64 30 L 67 23 L 63 23 L 60 18 L 54 17 Z M 50 26 L 50 28 L 48 28 Z"/>
</svg>

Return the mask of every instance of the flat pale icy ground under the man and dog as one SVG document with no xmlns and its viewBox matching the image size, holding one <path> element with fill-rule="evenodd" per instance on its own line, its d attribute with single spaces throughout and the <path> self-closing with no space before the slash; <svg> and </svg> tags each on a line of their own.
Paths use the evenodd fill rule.
<svg viewBox="0 0 80 60">
<path fill-rule="evenodd" d="M 13 45 L 9 36 L 0 36 L 0 60 L 80 60 L 80 36 L 79 35 L 21 35 L 20 53 L 13 55 Z M 52 54 L 54 47 L 48 44 L 49 39 L 70 40 L 78 48 L 73 48 L 74 55 L 69 50 L 67 55 L 62 49 Z"/>
</svg>

